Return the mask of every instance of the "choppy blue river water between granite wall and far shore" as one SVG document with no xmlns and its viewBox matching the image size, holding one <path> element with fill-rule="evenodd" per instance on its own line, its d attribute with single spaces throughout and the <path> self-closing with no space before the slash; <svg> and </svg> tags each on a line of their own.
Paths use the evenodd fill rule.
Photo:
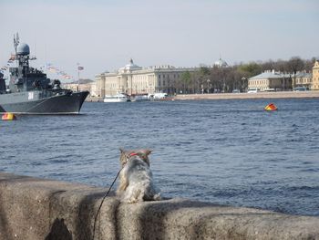
<svg viewBox="0 0 319 240">
<path fill-rule="evenodd" d="M 319 99 L 85 102 L 0 121 L 0 171 L 109 186 L 119 147 L 149 148 L 166 197 L 319 216 Z"/>
</svg>

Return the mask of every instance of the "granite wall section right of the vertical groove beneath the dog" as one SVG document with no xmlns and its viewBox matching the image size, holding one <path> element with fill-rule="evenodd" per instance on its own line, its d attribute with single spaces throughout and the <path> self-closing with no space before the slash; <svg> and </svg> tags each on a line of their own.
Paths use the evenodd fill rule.
<svg viewBox="0 0 319 240">
<path fill-rule="evenodd" d="M 120 205 L 121 239 L 319 239 L 319 219 L 173 199 Z"/>
</svg>

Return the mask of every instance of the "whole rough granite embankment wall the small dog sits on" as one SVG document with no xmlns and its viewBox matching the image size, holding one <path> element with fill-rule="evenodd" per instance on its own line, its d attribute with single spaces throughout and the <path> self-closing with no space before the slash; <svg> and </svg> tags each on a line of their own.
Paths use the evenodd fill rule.
<svg viewBox="0 0 319 240">
<path fill-rule="evenodd" d="M 92 239 L 107 189 L 0 172 L 0 239 Z M 118 203 L 111 192 L 95 239 L 319 239 L 319 218 L 170 199 Z"/>
</svg>

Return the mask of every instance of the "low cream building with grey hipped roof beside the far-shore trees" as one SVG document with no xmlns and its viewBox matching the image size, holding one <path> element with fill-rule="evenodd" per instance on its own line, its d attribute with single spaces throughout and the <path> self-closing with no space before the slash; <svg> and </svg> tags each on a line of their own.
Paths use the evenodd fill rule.
<svg viewBox="0 0 319 240">
<path fill-rule="evenodd" d="M 248 79 L 248 89 L 265 90 L 290 90 L 292 89 L 292 78 L 289 74 L 265 71 Z"/>
</svg>

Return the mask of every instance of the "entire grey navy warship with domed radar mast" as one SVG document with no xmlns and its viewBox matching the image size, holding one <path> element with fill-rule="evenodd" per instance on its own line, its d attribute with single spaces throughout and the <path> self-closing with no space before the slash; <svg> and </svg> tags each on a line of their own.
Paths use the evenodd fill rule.
<svg viewBox="0 0 319 240">
<path fill-rule="evenodd" d="M 42 71 L 29 67 L 30 48 L 14 37 L 16 67 L 9 68 L 9 85 L 0 72 L 0 113 L 76 114 L 88 91 L 61 89 L 60 81 L 46 78 Z"/>
</svg>

